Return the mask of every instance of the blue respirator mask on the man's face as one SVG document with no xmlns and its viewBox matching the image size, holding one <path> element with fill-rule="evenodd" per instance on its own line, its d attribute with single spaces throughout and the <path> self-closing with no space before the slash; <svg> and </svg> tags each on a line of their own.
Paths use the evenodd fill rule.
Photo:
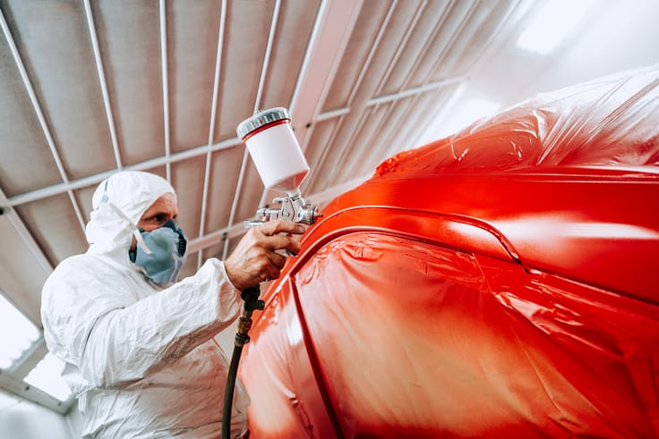
<svg viewBox="0 0 659 439">
<path fill-rule="evenodd" d="M 154 283 L 161 285 L 175 282 L 185 262 L 187 240 L 183 230 L 169 220 L 162 227 L 144 232 L 139 229 L 135 250 L 129 252 L 131 261 L 141 266 L 144 274 Z"/>
</svg>

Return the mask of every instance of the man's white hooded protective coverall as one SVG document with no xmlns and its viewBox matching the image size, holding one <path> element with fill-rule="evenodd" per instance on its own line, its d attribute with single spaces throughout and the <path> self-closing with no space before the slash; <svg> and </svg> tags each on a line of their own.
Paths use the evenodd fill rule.
<svg viewBox="0 0 659 439">
<path fill-rule="evenodd" d="M 137 224 L 174 190 L 150 173 L 106 182 L 92 200 L 90 248 L 56 267 L 41 305 L 48 350 L 64 360 L 78 398 L 83 437 L 219 437 L 228 362 L 213 336 L 235 320 L 240 293 L 215 258 L 168 288 L 148 281 L 128 256 L 133 227 L 108 202 Z M 232 437 L 246 431 L 248 404 L 236 383 Z"/>
</svg>

